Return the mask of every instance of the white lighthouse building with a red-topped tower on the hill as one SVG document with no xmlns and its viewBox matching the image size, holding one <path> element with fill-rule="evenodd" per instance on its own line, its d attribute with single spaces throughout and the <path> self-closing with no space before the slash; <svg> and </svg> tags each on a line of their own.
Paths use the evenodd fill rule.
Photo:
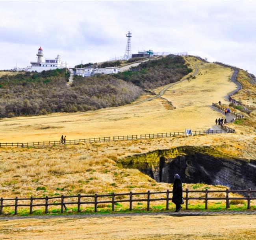
<svg viewBox="0 0 256 240">
<path fill-rule="evenodd" d="M 14 70 L 17 71 L 37 71 L 42 72 L 43 70 L 53 70 L 57 68 L 66 68 L 68 65 L 65 61 L 60 59 L 60 55 L 57 55 L 56 58 L 46 58 L 45 61 L 43 61 L 43 49 L 40 47 L 38 49 L 37 53 L 37 62 L 30 62 L 31 66 L 28 66 L 26 68 L 14 68 Z"/>
</svg>

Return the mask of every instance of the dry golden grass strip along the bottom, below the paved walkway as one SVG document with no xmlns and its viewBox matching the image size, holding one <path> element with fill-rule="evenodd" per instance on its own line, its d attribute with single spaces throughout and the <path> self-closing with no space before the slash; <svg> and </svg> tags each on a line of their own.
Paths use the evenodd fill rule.
<svg viewBox="0 0 256 240">
<path fill-rule="evenodd" d="M 122 216 L 0 221 L 1 239 L 254 240 L 255 216 Z"/>
</svg>

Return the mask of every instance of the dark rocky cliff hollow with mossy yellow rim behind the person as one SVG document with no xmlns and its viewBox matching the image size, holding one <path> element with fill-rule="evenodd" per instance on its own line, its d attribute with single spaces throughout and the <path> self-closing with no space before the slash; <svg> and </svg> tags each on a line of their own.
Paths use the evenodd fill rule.
<svg viewBox="0 0 256 240">
<path fill-rule="evenodd" d="M 184 183 L 256 189 L 256 160 L 232 158 L 209 147 L 191 146 L 129 156 L 119 162 L 137 168 L 157 182 L 173 183 L 178 173 Z"/>
</svg>

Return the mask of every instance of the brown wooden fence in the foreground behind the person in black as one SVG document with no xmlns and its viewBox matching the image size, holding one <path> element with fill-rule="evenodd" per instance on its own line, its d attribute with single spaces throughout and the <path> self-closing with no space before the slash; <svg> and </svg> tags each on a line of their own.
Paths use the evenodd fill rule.
<svg viewBox="0 0 256 240">
<path fill-rule="evenodd" d="M 230 197 L 229 193 L 243 193 L 247 194 L 245 197 Z M 186 203 L 186 210 L 188 209 L 189 200 L 202 200 L 205 203 L 205 209 L 208 209 L 208 201 L 210 200 L 225 200 L 226 201 L 226 209 L 229 208 L 229 200 L 246 200 L 247 201 L 247 209 L 250 209 L 250 201 L 255 200 L 255 197 L 251 196 L 251 193 L 256 192 L 256 190 L 188 190 L 183 191 L 185 194 L 184 201 Z M 94 211 L 97 212 L 97 205 L 101 203 L 110 203 L 112 211 L 115 211 L 116 203 L 129 203 L 129 210 L 132 210 L 132 204 L 134 202 L 147 202 L 147 210 L 150 210 L 150 202 L 152 201 L 164 201 L 166 203 L 165 209 L 169 209 L 169 202 L 172 200 L 170 198 L 170 194 L 172 191 L 167 190 L 165 192 L 128 192 L 128 193 L 112 193 L 112 194 L 94 194 L 94 195 L 82 195 L 78 194 L 76 196 L 57 196 L 57 197 L 43 197 L 43 198 L 0 198 L 0 214 L 3 214 L 4 207 L 14 207 L 14 214 L 17 214 L 18 207 L 29 207 L 30 214 L 33 213 L 33 207 L 44 207 L 45 213 L 48 213 L 49 206 L 60 206 L 60 212 L 63 213 L 64 209 L 67 209 L 66 205 L 77 206 L 77 212 L 81 211 L 82 205 L 94 205 Z M 203 197 L 189 197 L 189 193 L 202 193 Z M 226 196 L 219 198 L 211 198 L 208 196 L 209 193 L 224 193 Z M 156 194 L 164 194 L 164 197 L 160 198 L 150 198 L 151 196 L 155 196 Z M 138 198 L 143 195 L 143 198 Z M 146 198 L 145 198 L 146 196 Z M 118 199 L 116 197 L 119 197 Z M 125 198 L 125 199 L 120 199 Z M 99 198 L 105 198 L 103 201 L 98 201 Z M 65 199 L 69 199 L 68 201 Z M 70 199 L 75 199 L 74 201 L 70 201 Z M 35 201 L 41 201 L 39 203 L 35 203 Z M 54 200 L 54 202 L 50 202 Z M 87 201 L 86 201 L 87 200 Z M 7 203 L 4 205 L 5 201 L 12 201 L 12 203 Z M 19 201 L 23 201 L 23 203 L 19 203 Z M 26 201 L 26 203 L 24 203 Z"/>
</svg>

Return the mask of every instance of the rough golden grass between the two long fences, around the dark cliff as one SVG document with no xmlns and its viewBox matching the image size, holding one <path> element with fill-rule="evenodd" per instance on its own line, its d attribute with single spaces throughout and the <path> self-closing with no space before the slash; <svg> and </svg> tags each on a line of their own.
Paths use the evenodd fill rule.
<svg viewBox="0 0 256 240">
<path fill-rule="evenodd" d="M 239 134 L 29 149 L 0 148 L 0 189 L 5 197 L 166 190 L 172 185 L 156 183 L 136 169 L 119 168 L 117 159 L 153 150 L 191 145 L 212 146 L 235 157 L 256 159 L 255 140 Z M 46 188 L 45 192 L 36 190 L 41 186 Z M 190 185 L 184 187 L 191 188 Z"/>
</svg>

